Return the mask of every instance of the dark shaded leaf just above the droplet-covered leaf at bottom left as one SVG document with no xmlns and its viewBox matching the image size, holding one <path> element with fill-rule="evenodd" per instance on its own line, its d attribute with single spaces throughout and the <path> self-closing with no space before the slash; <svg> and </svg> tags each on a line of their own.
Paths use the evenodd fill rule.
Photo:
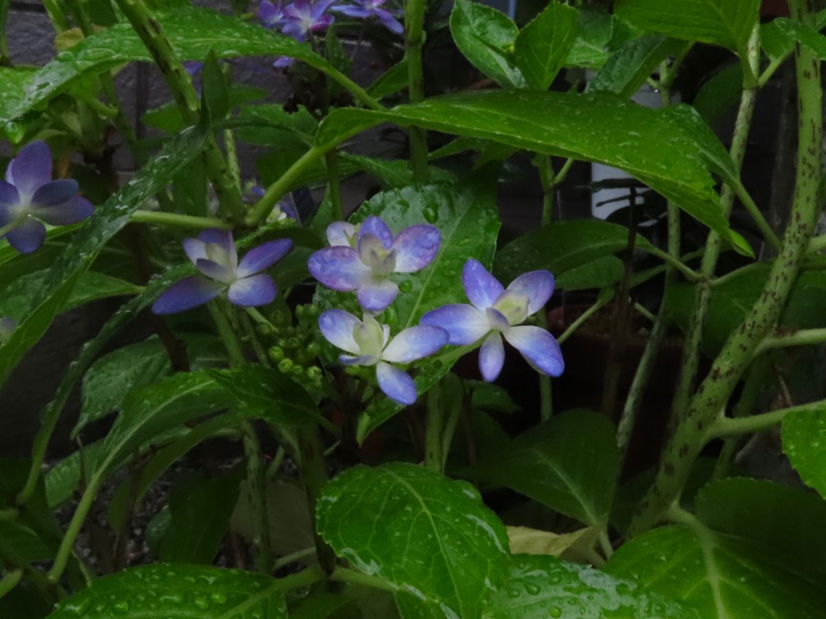
<svg viewBox="0 0 826 619">
<path fill-rule="evenodd" d="M 169 527 L 160 539 L 158 556 L 171 563 L 210 565 L 230 526 L 238 500 L 240 475 L 196 478 L 173 486 Z"/>
</svg>

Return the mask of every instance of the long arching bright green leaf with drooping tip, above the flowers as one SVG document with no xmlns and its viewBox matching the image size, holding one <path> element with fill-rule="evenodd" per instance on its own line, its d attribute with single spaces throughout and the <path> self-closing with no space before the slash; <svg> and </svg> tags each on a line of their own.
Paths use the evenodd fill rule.
<svg viewBox="0 0 826 619">
<path fill-rule="evenodd" d="M 607 93 L 474 92 L 435 97 L 389 111 L 339 109 L 321 123 L 316 142 L 338 144 L 379 122 L 417 125 L 491 139 L 520 149 L 605 163 L 629 172 L 747 252 L 729 229 L 710 171 L 730 171 L 725 149 L 686 111 L 653 110 Z M 632 129 L 633 128 L 633 129 Z"/>
</svg>

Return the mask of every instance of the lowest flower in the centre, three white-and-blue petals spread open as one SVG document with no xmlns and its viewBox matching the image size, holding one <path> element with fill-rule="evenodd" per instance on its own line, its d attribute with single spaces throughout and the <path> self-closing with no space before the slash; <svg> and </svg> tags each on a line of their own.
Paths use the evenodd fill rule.
<svg viewBox="0 0 826 619">
<path fill-rule="evenodd" d="M 443 328 L 425 325 L 406 328 L 391 339 L 387 324 L 378 324 L 370 314 L 359 320 L 342 309 L 325 311 L 318 326 L 328 342 L 350 353 L 339 356 L 345 366 L 376 366 L 378 386 L 399 404 L 415 403 L 415 383 L 406 372 L 390 364 L 427 357 L 448 342 Z"/>
</svg>

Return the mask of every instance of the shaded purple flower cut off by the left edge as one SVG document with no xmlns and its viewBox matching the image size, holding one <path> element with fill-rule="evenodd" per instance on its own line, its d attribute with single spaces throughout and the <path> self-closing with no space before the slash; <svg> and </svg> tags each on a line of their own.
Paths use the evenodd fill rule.
<svg viewBox="0 0 826 619">
<path fill-rule="evenodd" d="M 74 224 L 92 215 L 94 207 L 78 196 L 78 182 L 51 179 L 52 156 L 45 142 L 26 145 L 6 169 L 0 181 L 0 239 L 8 239 L 21 253 L 35 251 L 46 237 L 45 226 Z"/>
</svg>

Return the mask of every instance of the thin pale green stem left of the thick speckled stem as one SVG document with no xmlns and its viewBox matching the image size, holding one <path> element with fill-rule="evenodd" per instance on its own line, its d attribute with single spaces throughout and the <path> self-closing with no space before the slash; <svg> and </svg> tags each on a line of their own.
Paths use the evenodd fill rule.
<svg viewBox="0 0 826 619">
<path fill-rule="evenodd" d="M 759 29 L 756 27 L 749 39 L 748 54 L 752 64 L 757 65 L 760 54 Z M 748 144 L 748 132 L 752 125 L 754 116 L 754 104 L 757 100 L 757 88 L 744 88 L 740 97 L 737 120 L 734 124 L 734 133 L 731 142 L 731 158 L 739 169 L 743 166 L 743 158 L 746 154 Z M 739 185 L 739 183 L 738 183 Z M 726 185 L 720 196 L 720 207 L 723 215 L 728 217 L 734 202 L 736 187 Z M 681 419 L 686 413 L 689 400 L 691 399 L 691 388 L 694 385 L 697 375 L 697 368 L 700 365 L 700 341 L 703 335 L 703 325 L 705 316 L 709 308 L 711 297 L 711 280 L 717 268 L 717 261 L 720 251 L 723 248 L 723 239 L 717 233 L 711 231 L 705 242 L 705 252 L 700 264 L 700 281 L 695 287 L 694 310 L 691 320 L 686 329 L 686 338 L 682 348 L 682 361 L 680 376 L 677 378 L 672 403 L 672 419 Z"/>
</svg>

